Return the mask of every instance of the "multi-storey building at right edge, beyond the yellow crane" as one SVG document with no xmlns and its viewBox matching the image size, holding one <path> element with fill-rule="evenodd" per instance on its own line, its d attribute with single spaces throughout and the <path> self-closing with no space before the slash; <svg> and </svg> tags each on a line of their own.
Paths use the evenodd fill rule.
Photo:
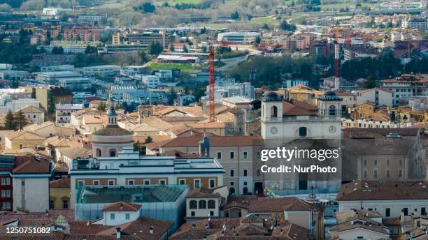
<svg viewBox="0 0 428 240">
<path fill-rule="evenodd" d="M 400 77 L 382 80 L 382 87 L 393 92 L 394 103 L 399 105 L 401 98 L 428 96 L 427 80 L 422 75 L 401 75 Z"/>
</svg>

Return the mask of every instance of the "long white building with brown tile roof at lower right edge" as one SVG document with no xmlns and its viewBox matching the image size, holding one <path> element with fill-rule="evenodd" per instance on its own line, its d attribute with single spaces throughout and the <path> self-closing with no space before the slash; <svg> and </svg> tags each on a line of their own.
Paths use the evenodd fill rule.
<svg viewBox="0 0 428 240">
<path fill-rule="evenodd" d="M 425 180 L 353 181 L 345 183 L 336 200 L 339 211 L 364 209 L 378 211 L 383 218 L 399 218 L 411 213 L 426 213 L 428 191 Z"/>
</svg>

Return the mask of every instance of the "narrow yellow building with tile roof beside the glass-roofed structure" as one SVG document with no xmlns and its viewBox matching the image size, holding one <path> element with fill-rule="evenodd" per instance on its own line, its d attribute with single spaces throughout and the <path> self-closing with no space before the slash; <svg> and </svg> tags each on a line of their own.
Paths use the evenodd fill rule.
<svg viewBox="0 0 428 240">
<path fill-rule="evenodd" d="M 49 209 L 70 209 L 70 179 L 50 181 Z"/>
</svg>

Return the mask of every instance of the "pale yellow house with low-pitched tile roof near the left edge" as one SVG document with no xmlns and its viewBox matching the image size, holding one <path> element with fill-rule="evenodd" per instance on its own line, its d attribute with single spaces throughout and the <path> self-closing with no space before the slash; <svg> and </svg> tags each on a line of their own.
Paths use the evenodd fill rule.
<svg viewBox="0 0 428 240">
<path fill-rule="evenodd" d="M 45 137 L 25 130 L 17 130 L 5 135 L 5 149 L 22 149 L 24 147 L 45 147 Z"/>
</svg>

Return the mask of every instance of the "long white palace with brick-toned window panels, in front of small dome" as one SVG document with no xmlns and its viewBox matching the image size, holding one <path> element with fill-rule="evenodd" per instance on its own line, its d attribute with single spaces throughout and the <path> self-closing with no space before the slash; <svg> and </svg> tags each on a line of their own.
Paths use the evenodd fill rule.
<svg viewBox="0 0 428 240">
<path fill-rule="evenodd" d="M 78 186 L 187 185 L 216 188 L 223 185 L 224 170 L 215 158 L 140 156 L 133 147 L 115 157 L 78 158 L 71 170 L 71 202 L 76 202 Z"/>
</svg>

